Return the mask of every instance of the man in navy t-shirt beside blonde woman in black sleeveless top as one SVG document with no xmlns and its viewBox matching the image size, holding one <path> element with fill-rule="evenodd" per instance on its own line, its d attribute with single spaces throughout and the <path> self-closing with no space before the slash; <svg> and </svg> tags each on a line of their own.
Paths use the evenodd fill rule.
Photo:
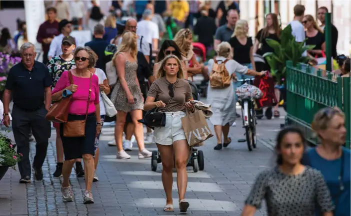
<svg viewBox="0 0 351 216">
<path fill-rule="evenodd" d="M 214 50 L 217 49 L 219 43 L 229 42 L 231 35 L 234 32 L 236 21 L 239 19 L 239 14 L 236 9 L 228 10 L 226 14 L 227 23 L 218 27 L 214 35 Z"/>
</svg>

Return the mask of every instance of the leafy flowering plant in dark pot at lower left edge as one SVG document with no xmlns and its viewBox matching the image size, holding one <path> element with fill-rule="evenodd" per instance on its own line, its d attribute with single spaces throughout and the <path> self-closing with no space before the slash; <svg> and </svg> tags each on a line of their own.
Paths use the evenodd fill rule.
<svg viewBox="0 0 351 216">
<path fill-rule="evenodd" d="M 16 170 L 16 164 L 22 155 L 14 150 L 15 145 L 11 144 L 11 139 L 7 137 L 8 131 L 0 132 L 0 180 L 7 172 L 8 168 Z"/>
</svg>

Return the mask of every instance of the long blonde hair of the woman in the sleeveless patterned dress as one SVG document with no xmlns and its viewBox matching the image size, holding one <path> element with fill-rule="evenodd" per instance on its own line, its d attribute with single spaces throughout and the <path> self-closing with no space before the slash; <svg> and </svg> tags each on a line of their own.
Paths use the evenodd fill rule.
<svg viewBox="0 0 351 216">
<path fill-rule="evenodd" d="M 114 62 L 116 56 L 120 52 L 130 52 L 130 55 L 136 60 L 136 55 L 137 55 L 136 34 L 131 31 L 125 31 L 121 37 L 122 37 L 122 41 L 118 46 L 117 52 L 113 55 L 112 62 Z"/>
</svg>

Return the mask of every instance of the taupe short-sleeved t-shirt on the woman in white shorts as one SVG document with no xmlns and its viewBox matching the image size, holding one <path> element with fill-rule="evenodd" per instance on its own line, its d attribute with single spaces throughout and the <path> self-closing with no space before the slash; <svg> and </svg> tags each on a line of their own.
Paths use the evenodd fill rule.
<svg viewBox="0 0 351 216">
<path fill-rule="evenodd" d="M 168 104 L 170 99 L 168 90 L 169 84 L 170 82 L 168 82 L 165 76 L 156 79 L 150 86 L 147 96 L 157 98 L 157 100 L 161 100 L 163 103 L 165 103 L 167 109 L 160 109 L 163 112 L 178 112 L 184 110 L 185 102 L 188 102 L 189 99 L 192 98 L 189 82 L 185 79 L 178 79 L 174 88 L 174 97 Z"/>
</svg>

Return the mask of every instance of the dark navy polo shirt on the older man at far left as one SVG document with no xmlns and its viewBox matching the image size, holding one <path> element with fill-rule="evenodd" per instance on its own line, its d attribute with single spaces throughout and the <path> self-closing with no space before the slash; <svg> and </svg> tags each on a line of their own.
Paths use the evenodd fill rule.
<svg viewBox="0 0 351 216">
<path fill-rule="evenodd" d="M 43 106 L 45 87 L 51 85 L 51 76 L 45 64 L 35 61 L 29 71 L 20 62 L 9 70 L 5 89 L 12 92 L 13 104 L 18 108 L 35 110 Z"/>
</svg>

